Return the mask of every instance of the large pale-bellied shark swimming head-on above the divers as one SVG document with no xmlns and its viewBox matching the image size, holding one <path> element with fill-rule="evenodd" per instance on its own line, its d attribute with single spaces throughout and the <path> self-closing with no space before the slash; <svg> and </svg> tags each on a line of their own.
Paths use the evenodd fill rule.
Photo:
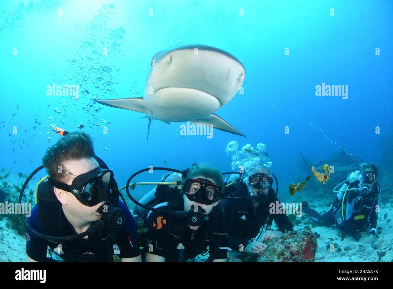
<svg viewBox="0 0 393 289">
<path fill-rule="evenodd" d="M 165 123 L 191 122 L 246 137 L 215 112 L 243 85 L 243 64 L 219 48 L 193 44 L 157 52 L 147 70 L 143 97 L 93 99 L 102 105 L 132 110 Z"/>
</svg>

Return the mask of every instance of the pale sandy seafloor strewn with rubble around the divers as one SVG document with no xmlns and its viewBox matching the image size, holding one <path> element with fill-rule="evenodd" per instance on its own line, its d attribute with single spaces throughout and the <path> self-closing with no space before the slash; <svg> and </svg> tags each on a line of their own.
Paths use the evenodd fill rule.
<svg viewBox="0 0 393 289">
<path fill-rule="evenodd" d="M 8 183 L 15 182 L 18 185 L 23 181 L 13 174 L 10 174 L 7 178 Z M 313 208 L 320 213 L 329 209 L 326 206 L 318 206 L 318 201 L 314 202 Z M 320 235 L 317 238 L 316 262 L 391 262 L 393 261 L 393 222 L 390 221 L 393 219 L 392 210 L 392 203 L 380 206 L 377 227 L 382 229 L 380 228 L 377 231 L 380 231 L 381 234 L 377 234 L 379 238 L 375 238 L 375 241 L 370 245 L 356 242 L 353 238 L 342 240 L 337 235 L 338 229 L 335 225 L 331 227 L 312 227 L 313 221 L 310 218 L 302 220 L 299 225 L 294 224 L 294 229 L 299 230 L 304 226 L 310 226 L 312 232 Z M 9 223 L 7 217 L 0 220 L 0 261 L 26 261 L 26 236 L 18 234 L 12 228 L 7 228 L 7 223 Z M 274 223 L 273 228 L 276 229 Z M 328 246 L 330 248 L 331 244 L 335 245 L 336 250 L 334 252 L 327 249 Z M 338 250 L 338 248 L 341 250 Z M 237 261 L 235 256 L 236 254 L 230 253 L 229 261 Z M 195 261 L 204 261 L 206 258 L 207 256 L 197 256 Z"/>
</svg>

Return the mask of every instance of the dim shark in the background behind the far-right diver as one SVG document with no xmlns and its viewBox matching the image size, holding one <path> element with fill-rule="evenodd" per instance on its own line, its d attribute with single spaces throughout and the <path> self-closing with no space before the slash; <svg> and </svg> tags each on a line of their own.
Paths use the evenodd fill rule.
<svg viewBox="0 0 393 289">
<path fill-rule="evenodd" d="M 340 148 L 340 153 L 334 153 L 330 158 L 326 160 L 320 160 L 318 164 L 312 164 L 312 162 L 305 158 L 300 152 L 301 160 L 295 165 L 297 168 L 305 171 L 307 174 L 310 174 L 311 167 L 314 166 L 316 169 L 320 169 L 324 164 L 328 164 L 330 166 L 334 166 L 335 172 L 346 172 L 353 171 L 360 168 L 360 164 L 365 161 L 361 158 L 357 158 L 356 156 L 350 155 L 345 151 L 343 147 Z"/>
</svg>

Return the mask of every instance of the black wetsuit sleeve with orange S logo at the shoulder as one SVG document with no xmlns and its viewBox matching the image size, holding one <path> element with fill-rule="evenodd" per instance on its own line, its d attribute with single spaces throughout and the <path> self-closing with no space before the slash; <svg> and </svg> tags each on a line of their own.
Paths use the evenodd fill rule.
<svg viewBox="0 0 393 289">
<path fill-rule="evenodd" d="M 160 207 L 166 210 L 167 207 Z M 165 257 L 167 244 L 167 216 L 159 212 L 150 212 L 145 228 L 147 232 L 142 237 L 143 251 L 153 255 Z"/>
</svg>

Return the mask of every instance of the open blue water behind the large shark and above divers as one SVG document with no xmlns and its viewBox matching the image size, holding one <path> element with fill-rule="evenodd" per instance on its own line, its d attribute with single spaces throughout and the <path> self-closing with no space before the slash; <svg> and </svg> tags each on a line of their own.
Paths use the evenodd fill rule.
<svg viewBox="0 0 393 289">
<path fill-rule="evenodd" d="M 225 148 L 232 140 L 265 144 L 284 187 L 305 177 L 294 168 L 299 151 L 318 162 L 342 146 L 378 164 L 378 143 L 393 123 L 392 11 L 389 1 L 2 1 L 0 169 L 30 173 L 60 137 L 49 125 L 78 131 L 79 122 L 119 184 L 148 166 L 206 161 L 230 171 Z M 217 114 L 247 138 L 218 130 L 211 139 L 182 138 L 180 123 L 155 120 L 147 141 L 143 114 L 98 104 L 82 109 L 94 96 L 143 96 L 152 56 L 174 44 L 214 46 L 242 62 L 244 95 Z M 79 99 L 46 96 L 53 82 L 81 84 Z M 348 85 L 348 99 L 316 96 L 322 83 Z M 102 118 L 111 122 L 108 134 Z"/>
</svg>

